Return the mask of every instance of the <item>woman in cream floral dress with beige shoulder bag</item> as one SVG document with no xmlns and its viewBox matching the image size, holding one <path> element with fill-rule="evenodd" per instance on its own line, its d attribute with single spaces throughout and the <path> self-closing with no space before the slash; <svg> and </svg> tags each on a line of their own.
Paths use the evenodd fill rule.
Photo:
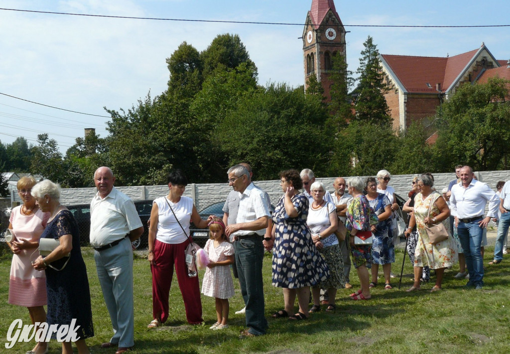
<svg viewBox="0 0 510 354">
<path fill-rule="evenodd" d="M 425 263 L 431 269 L 436 270 L 436 285 L 431 289 L 431 292 L 434 292 L 441 290 L 445 268 L 451 267 L 457 262 L 457 253 L 452 237 L 436 244 L 430 243 L 428 239 L 425 225 L 443 222 L 450 216 L 450 209 L 444 198 L 438 192 L 432 192 L 433 184 L 433 179 L 428 175 L 421 175 L 418 179 L 420 193 L 415 197 L 414 213 L 409 221 L 409 227 L 405 230 L 406 237 L 409 237 L 411 229 L 416 225 L 419 233 L 415 250 L 415 279 L 413 286 L 407 289 L 408 292 L 420 289 L 420 274 Z"/>
</svg>

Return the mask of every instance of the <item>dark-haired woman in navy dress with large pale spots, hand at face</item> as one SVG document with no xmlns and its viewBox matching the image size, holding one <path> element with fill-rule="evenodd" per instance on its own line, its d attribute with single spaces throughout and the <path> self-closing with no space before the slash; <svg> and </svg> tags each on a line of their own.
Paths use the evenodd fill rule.
<svg viewBox="0 0 510 354">
<path fill-rule="evenodd" d="M 274 318 L 305 319 L 308 317 L 310 287 L 327 279 L 329 270 L 312 241 L 307 226 L 309 201 L 298 193 L 302 188 L 301 177 L 296 170 L 279 174 L 285 193 L 273 213 L 274 238 L 272 282 L 283 288 L 285 309 L 273 314 Z M 294 301 L 299 302 L 299 312 L 294 313 Z"/>
</svg>

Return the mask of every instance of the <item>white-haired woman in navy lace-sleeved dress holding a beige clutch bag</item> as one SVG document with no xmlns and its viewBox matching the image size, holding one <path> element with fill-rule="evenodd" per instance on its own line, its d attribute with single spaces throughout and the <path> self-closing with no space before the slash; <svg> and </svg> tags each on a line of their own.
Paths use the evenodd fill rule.
<svg viewBox="0 0 510 354">
<path fill-rule="evenodd" d="M 78 340 L 74 343 L 79 353 L 89 353 L 85 338 L 94 336 L 90 290 L 87 269 L 80 249 L 80 232 L 72 213 L 60 204 L 60 186 L 43 180 L 32 188 L 32 195 L 42 211 L 49 211 L 51 217 L 41 239 L 55 239 L 60 242 L 46 257 L 39 256 L 33 264 L 37 270 L 46 271 L 46 291 L 48 298 L 48 325 L 70 325 L 75 319 L 74 328 Z M 57 339 L 56 334 L 52 335 Z M 71 341 L 62 342 L 62 352 L 72 352 Z"/>
</svg>

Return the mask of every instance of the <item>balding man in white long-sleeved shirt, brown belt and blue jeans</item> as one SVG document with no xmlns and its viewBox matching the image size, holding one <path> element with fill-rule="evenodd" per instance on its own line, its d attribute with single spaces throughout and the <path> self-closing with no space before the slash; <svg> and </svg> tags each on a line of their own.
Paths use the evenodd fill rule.
<svg viewBox="0 0 510 354">
<path fill-rule="evenodd" d="M 458 238 L 461 241 L 466 266 L 469 271 L 467 287 L 482 289 L 483 258 L 480 247 L 483 228 L 498 212 L 498 197 L 486 184 L 473 178 L 473 170 L 464 166 L 460 172 L 461 182 L 451 188 L 450 208 L 455 217 Z M 489 213 L 483 217 L 486 204 Z"/>
</svg>

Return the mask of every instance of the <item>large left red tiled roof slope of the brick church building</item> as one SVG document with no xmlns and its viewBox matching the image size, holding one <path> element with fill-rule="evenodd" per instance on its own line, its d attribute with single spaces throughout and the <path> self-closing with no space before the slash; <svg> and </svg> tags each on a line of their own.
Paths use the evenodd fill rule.
<svg viewBox="0 0 510 354">
<path fill-rule="evenodd" d="M 448 58 L 382 54 L 407 92 L 436 92 L 443 79 Z M 430 84 L 430 88 L 427 87 Z"/>
</svg>

